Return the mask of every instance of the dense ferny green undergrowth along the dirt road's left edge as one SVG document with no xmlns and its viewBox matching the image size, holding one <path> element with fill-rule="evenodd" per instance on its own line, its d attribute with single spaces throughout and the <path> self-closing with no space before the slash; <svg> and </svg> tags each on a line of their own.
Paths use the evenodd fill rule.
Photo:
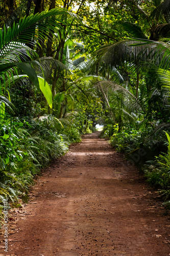
<svg viewBox="0 0 170 256">
<path fill-rule="evenodd" d="M 25 200 L 34 178 L 54 159 L 64 155 L 71 143 L 81 141 L 74 124 L 56 129 L 55 118 L 20 122 L 17 119 L 0 123 L 0 221 L 3 223 L 3 202 L 11 207 Z"/>
</svg>

